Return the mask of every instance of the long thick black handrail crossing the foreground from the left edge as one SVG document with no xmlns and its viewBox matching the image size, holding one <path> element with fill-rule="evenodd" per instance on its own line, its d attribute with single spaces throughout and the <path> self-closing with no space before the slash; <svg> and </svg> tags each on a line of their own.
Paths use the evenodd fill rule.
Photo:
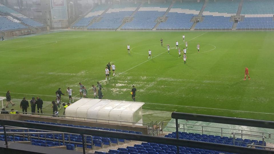
<svg viewBox="0 0 274 154">
<path fill-rule="evenodd" d="M 186 147 L 194 147 L 194 148 L 201 148 L 201 149 L 212 149 L 212 150 L 227 151 L 227 152 L 232 152 L 232 153 L 274 154 L 274 151 L 265 150 L 265 149 L 254 149 L 254 148 L 217 144 L 217 143 L 208 143 L 208 142 L 201 142 L 201 141 L 192 141 L 192 140 L 185 140 L 185 139 L 174 139 L 174 138 L 168 138 L 168 137 L 149 136 L 149 135 L 141 135 L 141 134 L 114 132 L 114 131 L 104 131 L 104 130 L 97 130 L 97 129 L 85 129 L 85 128 L 78 128 L 78 127 L 49 125 L 49 124 L 32 123 L 32 122 L 25 122 L 25 121 L 0 119 L 0 125 L 3 125 L 4 129 L 5 129 L 5 125 L 17 126 L 17 127 L 24 126 L 24 127 L 28 127 L 31 129 L 44 129 L 44 130 L 51 130 L 51 131 L 64 131 L 67 133 L 78 133 L 78 134 L 81 134 L 82 136 L 83 136 L 83 134 L 97 135 L 97 136 L 102 136 L 102 137 L 123 138 L 123 139 L 135 140 L 135 141 L 162 143 L 162 144 L 168 144 L 168 145 L 186 146 Z M 5 135 L 5 139 L 6 139 L 6 135 Z M 84 144 L 84 141 L 83 141 L 83 144 Z M 85 145 L 83 145 L 83 146 L 85 146 Z"/>
</svg>

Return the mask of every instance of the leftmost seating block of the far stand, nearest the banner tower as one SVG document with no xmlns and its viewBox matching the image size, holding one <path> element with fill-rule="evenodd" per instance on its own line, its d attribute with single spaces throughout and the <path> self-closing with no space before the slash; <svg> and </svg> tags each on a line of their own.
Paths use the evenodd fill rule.
<svg viewBox="0 0 274 154">
<path fill-rule="evenodd" d="M 97 5 L 87 15 L 85 15 L 85 17 L 83 17 L 77 23 L 75 23 L 73 25 L 73 27 L 86 27 L 86 26 L 88 26 L 94 17 L 98 17 L 99 15 L 101 15 L 108 7 L 109 7 L 109 5 L 103 5 L 103 4 L 102 5 Z"/>
</svg>

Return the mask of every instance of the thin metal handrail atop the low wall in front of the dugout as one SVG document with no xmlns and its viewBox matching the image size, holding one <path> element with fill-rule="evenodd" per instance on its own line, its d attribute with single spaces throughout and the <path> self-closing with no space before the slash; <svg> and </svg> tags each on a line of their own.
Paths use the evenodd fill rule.
<svg viewBox="0 0 274 154">
<path fill-rule="evenodd" d="M 31 113 L 31 112 L 19 112 L 19 113 L 28 113 L 29 115 L 35 115 L 35 116 L 43 116 L 43 115 L 49 115 L 49 116 L 53 116 L 53 114 L 41 114 L 40 115 L 40 113 Z M 36 115 L 36 114 L 38 114 L 38 115 Z M 24 115 L 24 114 L 23 114 Z M 56 116 L 56 117 L 60 117 L 61 116 L 61 118 L 63 119 L 63 118 L 65 118 L 65 119 L 70 119 L 70 118 L 66 118 L 66 117 L 73 117 L 73 116 L 63 116 L 63 115 L 54 115 L 54 116 Z M 87 118 L 87 117 L 73 117 L 73 119 L 74 118 L 82 118 L 82 119 L 94 119 L 96 122 L 104 122 L 104 121 L 97 121 L 97 120 L 105 120 L 105 121 L 116 121 L 116 122 L 124 122 L 124 123 L 135 123 L 135 124 L 142 124 L 142 125 L 147 125 L 147 123 L 138 123 L 138 122 L 128 122 L 128 121 L 119 121 L 119 120 L 109 120 L 109 119 L 95 119 L 95 118 Z M 81 120 L 81 119 L 78 119 L 78 120 Z M 89 121 L 93 121 L 93 120 L 89 120 Z M 110 123 L 110 122 L 108 122 L 108 123 Z M 114 123 L 114 122 L 113 122 Z M 115 123 L 115 124 L 117 124 L 117 123 Z M 125 124 L 125 125 L 130 125 L 130 124 Z"/>
</svg>

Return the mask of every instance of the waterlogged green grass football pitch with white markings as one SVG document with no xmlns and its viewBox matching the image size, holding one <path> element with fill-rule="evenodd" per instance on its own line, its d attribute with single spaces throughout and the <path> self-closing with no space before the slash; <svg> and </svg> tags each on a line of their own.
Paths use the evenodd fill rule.
<svg viewBox="0 0 274 154">
<path fill-rule="evenodd" d="M 185 47 L 183 34 L 187 64 L 174 48 L 176 40 Z M 79 82 L 89 89 L 105 80 L 113 62 L 117 76 L 103 82 L 105 99 L 132 101 L 135 85 L 144 109 L 273 120 L 273 38 L 274 32 L 67 31 L 1 41 L 0 95 L 11 90 L 12 98 L 51 101 L 59 87 L 71 87 L 75 96 Z M 243 81 L 245 66 L 251 80 Z"/>
</svg>

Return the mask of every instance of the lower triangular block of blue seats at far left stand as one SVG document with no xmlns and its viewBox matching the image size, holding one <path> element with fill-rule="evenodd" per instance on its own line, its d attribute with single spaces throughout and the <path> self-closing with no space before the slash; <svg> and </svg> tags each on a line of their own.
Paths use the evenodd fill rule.
<svg viewBox="0 0 274 154">
<path fill-rule="evenodd" d="M 15 30 L 15 29 L 24 29 L 28 28 L 21 23 L 15 23 L 7 19 L 6 17 L 0 16 L 0 31 L 8 31 L 8 30 Z"/>
</svg>

